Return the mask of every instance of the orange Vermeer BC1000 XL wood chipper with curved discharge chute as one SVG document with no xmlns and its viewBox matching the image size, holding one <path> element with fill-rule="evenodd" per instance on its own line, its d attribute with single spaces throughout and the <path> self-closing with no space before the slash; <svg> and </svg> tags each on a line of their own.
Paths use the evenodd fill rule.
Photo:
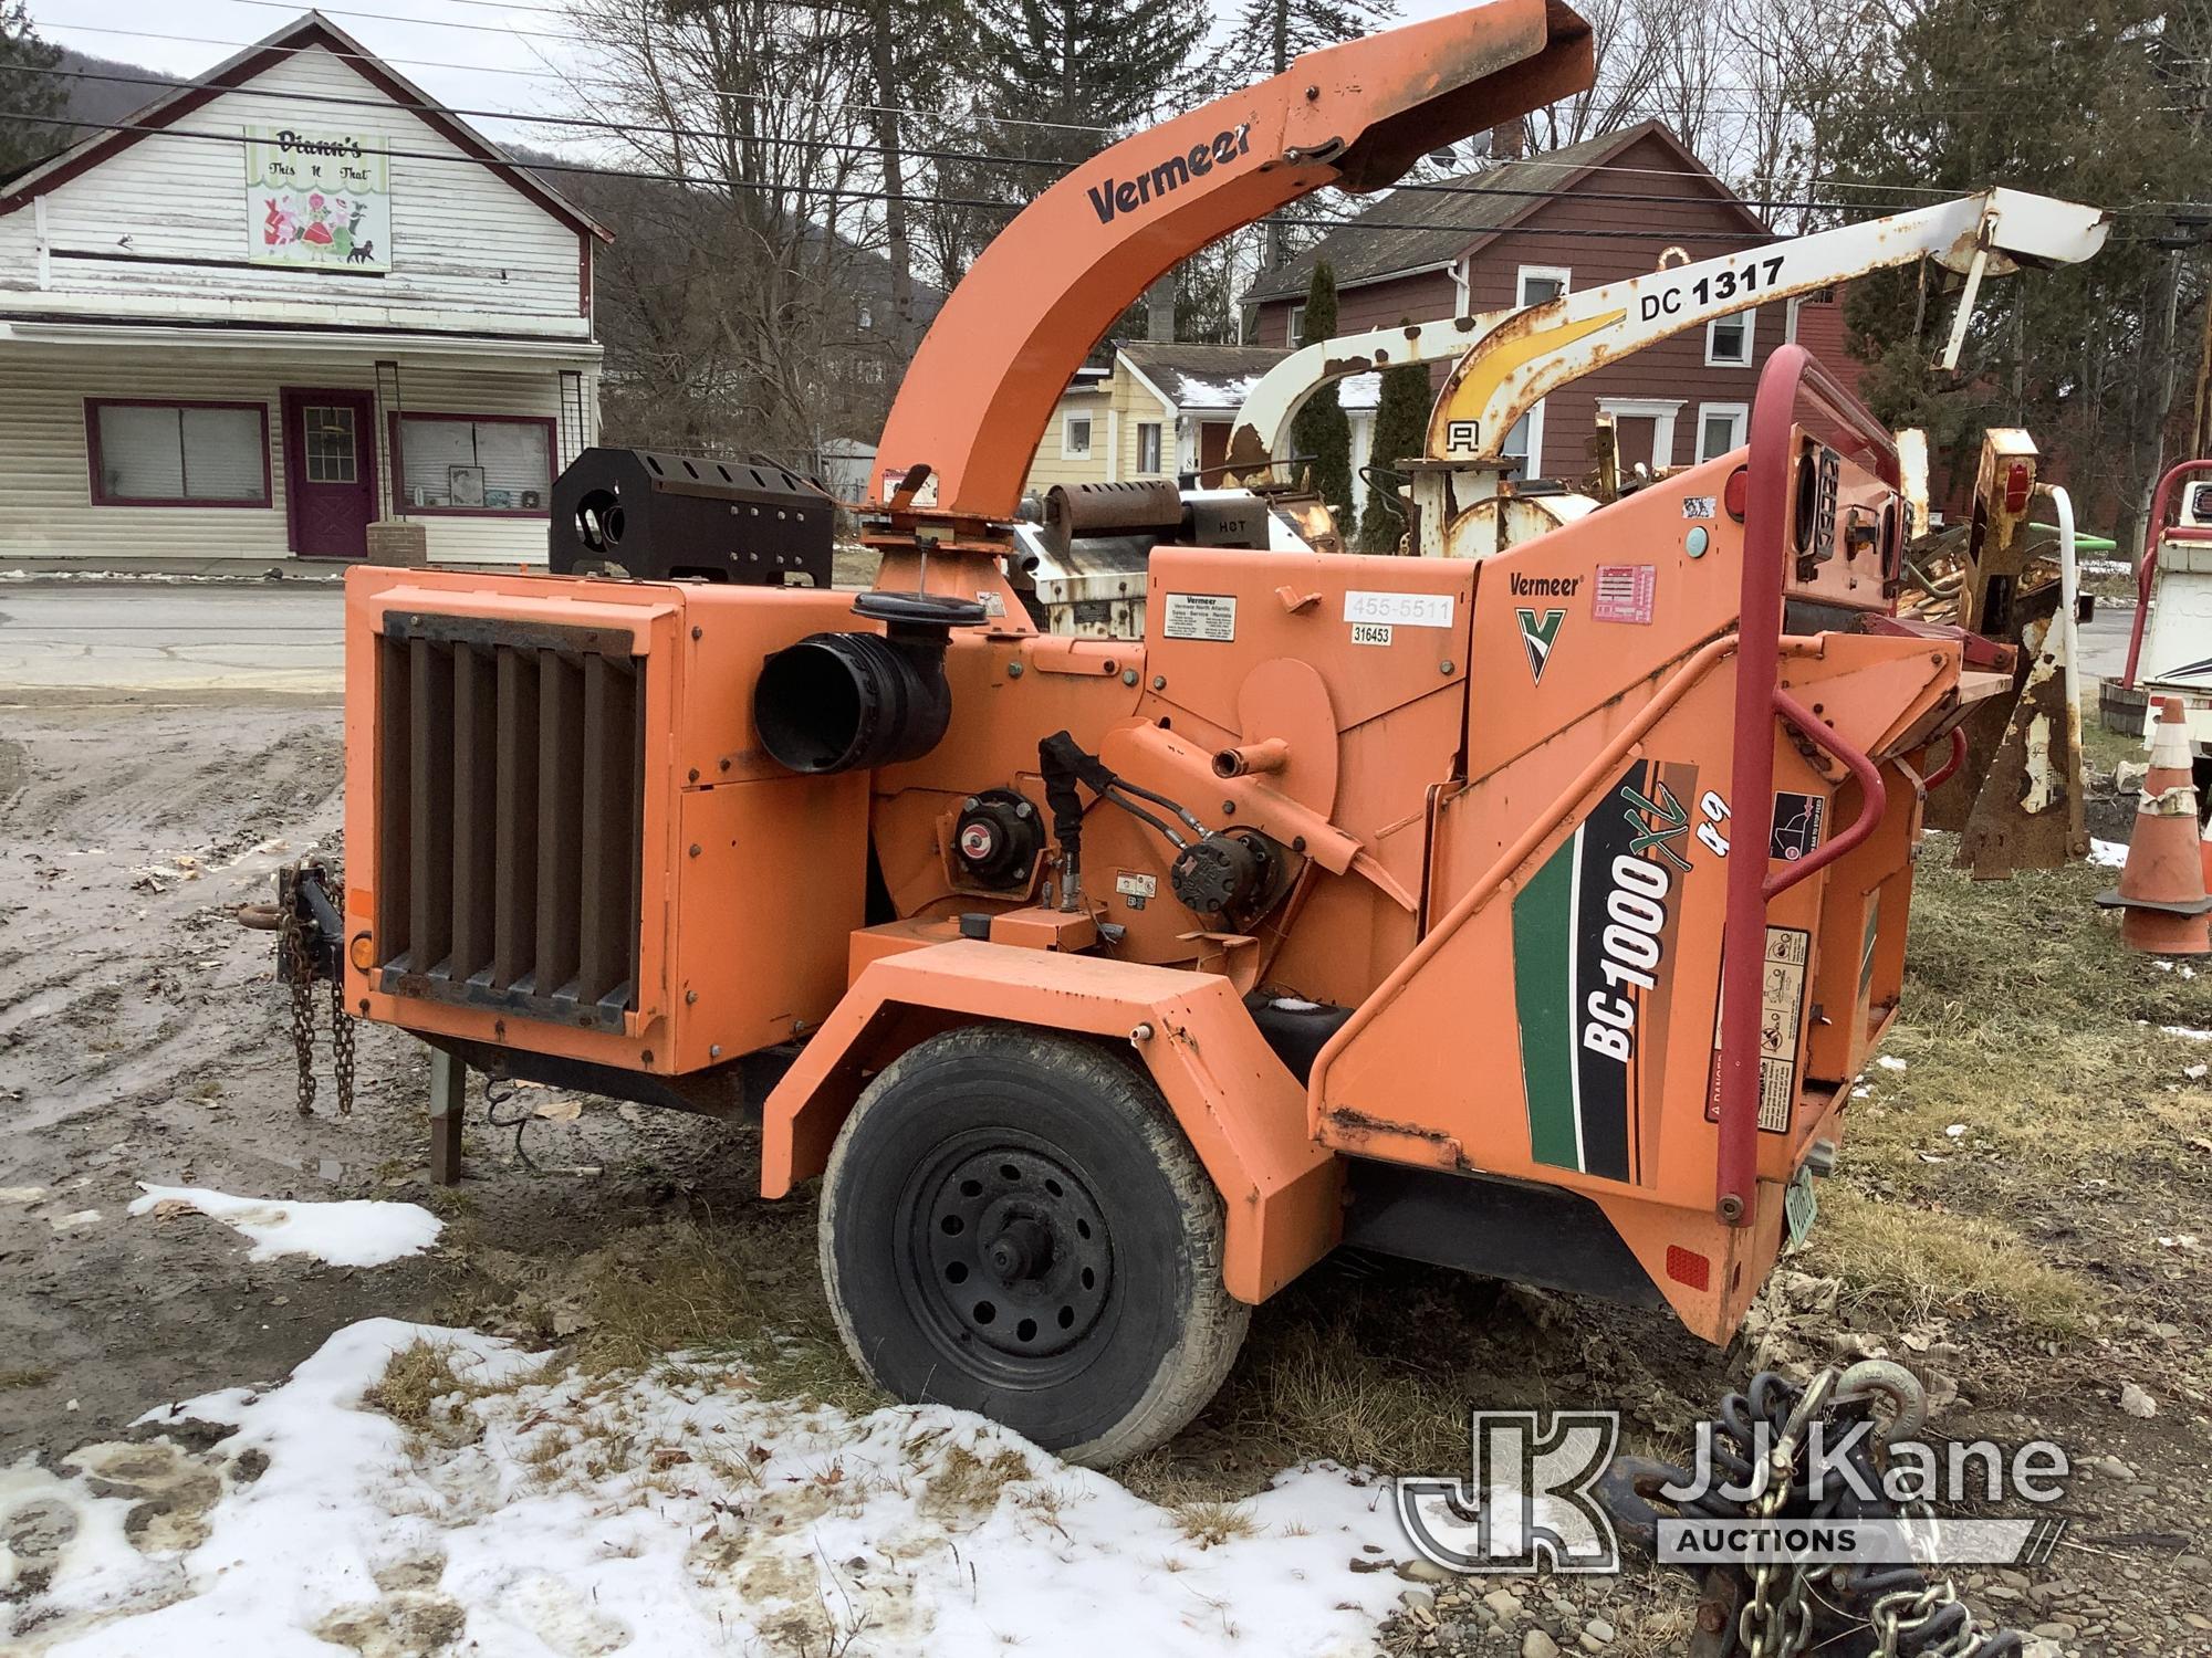
<svg viewBox="0 0 2212 1658">
<path fill-rule="evenodd" d="M 1867 628 L 1874 418 L 1785 347 L 1745 449 L 1493 557 L 1170 535 L 1144 639 L 1037 632 L 1013 570 L 1053 400 L 1161 272 L 1588 80 L 1582 18 L 1495 0 L 1077 166 L 920 347 L 867 592 L 349 573 L 345 1008 L 710 1110 L 781 1054 L 763 1189 L 823 1180 L 854 1362 L 1077 1459 L 1175 1433 L 1338 1245 L 1725 1340 L 2002 683 Z"/>
</svg>

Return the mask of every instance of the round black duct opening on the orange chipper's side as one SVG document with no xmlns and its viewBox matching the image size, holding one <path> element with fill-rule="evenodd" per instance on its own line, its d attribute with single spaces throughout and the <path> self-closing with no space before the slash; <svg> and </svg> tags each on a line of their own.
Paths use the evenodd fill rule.
<svg viewBox="0 0 2212 1658">
<path fill-rule="evenodd" d="M 752 727 L 776 765 L 825 776 L 918 760 L 945 738 L 953 692 L 945 648 L 984 619 L 973 599 L 863 592 L 856 617 L 885 632 L 818 632 L 761 665 Z"/>
</svg>

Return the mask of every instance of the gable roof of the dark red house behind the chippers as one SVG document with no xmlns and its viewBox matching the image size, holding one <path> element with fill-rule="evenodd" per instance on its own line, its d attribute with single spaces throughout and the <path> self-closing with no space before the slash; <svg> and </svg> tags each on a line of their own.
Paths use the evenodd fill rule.
<svg viewBox="0 0 2212 1658">
<path fill-rule="evenodd" d="M 1646 137 L 1655 137 L 1672 150 L 1688 177 L 1712 188 L 1717 203 L 1734 208 L 1747 234 L 1772 234 L 1767 223 L 1745 208 L 1736 199 L 1736 192 L 1721 183 L 1663 122 L 1637 122 L 1635 126 L 1624 126 L 1619 133 L 1599 133 L 1582 144 L 1546 150 L 1524 161 L 1506 161 L 1504 166 L 1444 179 L 1444 183 L 1469 186 L 1480 195 L 1420 188 L 1391 190 L 1352 219 L 1345 230 L 1365 225 L 1367 221 L 1411 225 L 1409 230 L 1329 232 L 1296 259 L 1263 272 L 1245 290 L 1243 303 L 1305 298 L 1307 285 L 1314 279 L 1314 265 L 1323 259 L 1329 261 L 1329 270 L 1336 274 L 1338 292 L 1380 283 L 1391 276 L 1407 276 L 1418 270 L 1442 270 L 1500 230 L 1509 230 L 1544 210 L 1553 201 L 1548 192 L 1573 190 L 1595 168 Z M 1635 206 L 1624 203 L 1624 212 L 1635 212 Z"/>
</svg>

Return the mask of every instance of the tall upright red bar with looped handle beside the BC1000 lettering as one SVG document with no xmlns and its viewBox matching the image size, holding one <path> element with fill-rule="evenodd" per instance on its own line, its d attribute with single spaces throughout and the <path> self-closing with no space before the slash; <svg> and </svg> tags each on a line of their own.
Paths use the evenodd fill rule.
<svg viewBox="0 0 2212 1658">
<path fill-rule="evenodd" d="M 1767 900 L 1843 858 L 1874 833 L 1889 800 L 1874 760 L 1778 685 L 1783 637 L 1783 568 L 1790 535 L 1792 431 L 1801 402 L 1816 405 L 1843 431 L 1865 440 L 1876 471 L 1898 482 L 1898 451 L 1880 420 L 1814 363 L 1803 345 L 1767 358 L 1752 405 L 1750 500 L 1743 513 L 1743 597 L 1736 619 L 1736 736 L 1730 789 L 1736 814 L 1756 831 L 1736 836 L 1747 856 L 1728 862 L 1728 913 L 1721 924 L 1721 1154 L 1714 1211 L 1732 1227 L 1752 1222 L 1759 1183 L 1759 977 L 1767 957 Z M 1887 462 L 1887 464 L 1885 464 Z M 1774 721 L 1843 760 L 1858 778 L 1863 802 L 1851 827 L 1809 858 L 1767 873 L 1765 847 L 1774 814 Z"/>
</svg>

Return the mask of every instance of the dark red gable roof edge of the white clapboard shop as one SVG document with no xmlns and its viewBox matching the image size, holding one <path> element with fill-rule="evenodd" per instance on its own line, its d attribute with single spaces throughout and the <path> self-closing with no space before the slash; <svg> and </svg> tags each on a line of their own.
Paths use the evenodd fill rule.
<svg viewBox="0 0 2212 1658">
<path fill-rule="evenodd" d="M 445 111 L 445 106 L 440 106 L 436 97 L 431 97 L 411 80 L 400 75 L 396 69 L 383 62 L 358 40 L 338 29 L 338 24 L 334 24 L 321 11 L 303 11 L 299 18 L 288 22 L 276 33 L 263 35 L 252 46 L 239 51 L 234 57 L 226 57 L 206 75 L 199 75 L 192 82 L 192 86 L 177 86 L 168 93 L 161 93 L 150 104 L 142 106 L 139 111 L 135 111 L 124 119 L 124 124 L 131 126 L 133 130 L 93 133 L 91 137 L 69 146 L 60 155 L 46 157 L 44 161 L 27 168 L 24 172 L 18 172 L 13 179 L 4 183 L 7 195 L 0 195 L 0 214 L 15 212 L 20 206 L 31 201 L 31 197 L 42 195 L 55 188 L 58 183 L 64 183 L 77 177 L 80 172 L 100 166 L 119 150 L 128 150 L 139 139 L 150 137 L 153 130 L 170 126 L 173 122 L 181 119 L 184 115 L 190 115 L 204 104 L 210 104 L 223 93 L 243 88 L 257 75 L 268 73 L 285 57 L 299 51 L 307 51 L 310 46 L 321 46 L 343 57 L 347 69 L 352 69 L 365 82 L 376 86 L 389 99 L 394 99 L 396 104 L 414 106 L 407 111 L 409 115 L 414 115 L 425 126 L 434 128 L 440 137 L 451 141 L 465 155 L 473 155 L 480 161 L 489 161 L 491 164 L 487 168 L 489 172 L 495 172 L 502 179 L 507 179 L 507 183 L 511 183 L 515 190 L 526 195 L 540 208 L 544 208 L 555 219 L 566 223 L 571 230 L 597 237 L 599 241 L 615 239 L 613 232 L 608 232 L 597 219 L 586 214 L 564 195 L 560 195 L 560 190 L 549 186 L 542 177 L 515 164 L 498 144 L 487 139 L 482 133 L 462 122 L 458 115 Z"/>
</svg>

